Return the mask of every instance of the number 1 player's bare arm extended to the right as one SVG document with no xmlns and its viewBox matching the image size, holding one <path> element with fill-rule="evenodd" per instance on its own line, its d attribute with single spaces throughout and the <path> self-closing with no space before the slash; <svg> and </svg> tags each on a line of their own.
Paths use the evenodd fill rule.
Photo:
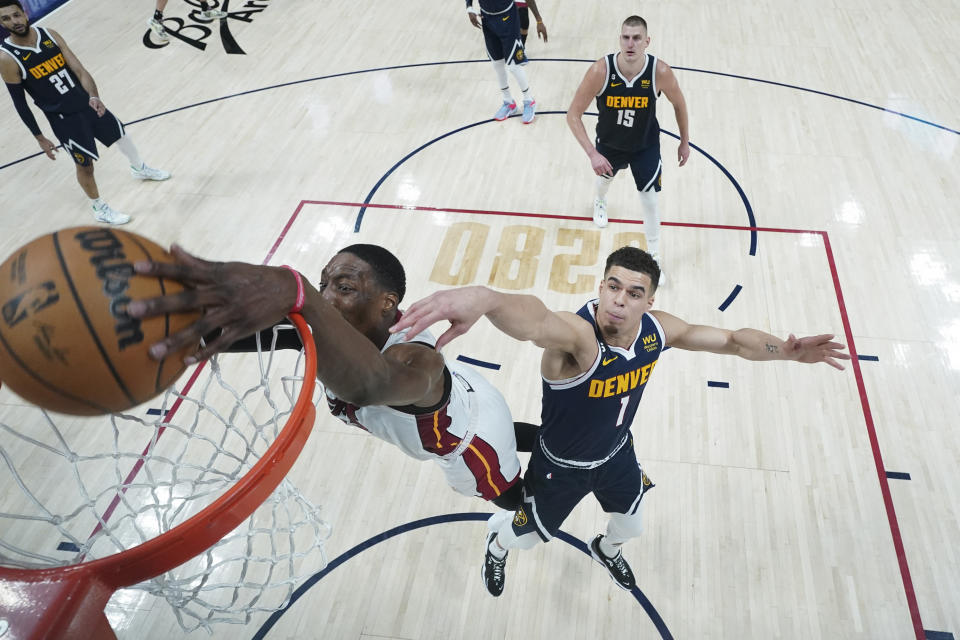
<svg viewBox="0 0 960 640">
<path fill-rule="evenodd" d="M 747 360 L 795 360 L 810 364 L 825 362 L 841 371 L 843 371 L 843 365 L 837 361 L 850 359 L 849 354 L 843 352 L 846 346 L 834 342 L 832 334 L 805 338 L 797 338 L 790 334 L 789 338 L 781 340 L 758 329 L 730 331 L 688 324 L 663 311 L 651 313 L 663 327 L 667 345 L 678 349 L 729 354 Z"/>
</svg>

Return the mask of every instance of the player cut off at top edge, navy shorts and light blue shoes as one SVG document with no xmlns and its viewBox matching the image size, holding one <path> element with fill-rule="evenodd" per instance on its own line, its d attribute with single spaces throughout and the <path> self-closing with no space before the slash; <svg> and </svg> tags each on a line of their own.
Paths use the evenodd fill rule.
<svg viewBox="0 0 960 640">
<path fill-rule="evenodd" d="M 536 0 L 527 0 L 534 15 L 539 16 Z M 537 112 L 537 101 L 530 92 L 530 82 L 524 66 L 527 64 L 527 54 L 523 50 L 520 39 L 520 16 L 513 0 L 477 0 L 479 11 L 473 7 L 473 0 L 467 0 L 467 15 L 470 23 L 483 31 L 483 40 L 487 46 L 487 56 L 493 63 L 493 70 L 500 83 L 500 92 L 503 95 L 503 104 L 494 114 L 496 120 L 506 120 L 512 115 L 522 114 L 523 124 L 530 124 Z M 481 18 L 482 16 L 482 18 Z M 537 18 L 538 22 L 542 21 Z M 538 32 L 539 32 L 538 26 Z M 547 40 L 547 30 L 543 29 L 543 40 Z M 513 74 L 520 85 L 523 94 L 523 107 L 517 106 L 510 93 L 510 83 L 507 80 L 507 70 Z"/>
</svg>

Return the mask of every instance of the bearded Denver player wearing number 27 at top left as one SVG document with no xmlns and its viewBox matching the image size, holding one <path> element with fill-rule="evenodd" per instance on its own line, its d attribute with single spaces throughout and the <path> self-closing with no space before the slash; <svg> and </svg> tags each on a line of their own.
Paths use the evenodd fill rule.
<svg viewBox="0 0 960 640">
<path fill-rule="evenodd" d="M 63 148 L 77 167 L 77 182 L 90 198 L 94 217 L 100 222 L 123 224 L 130 216 L 112 209 L 100 198 L 93 176 L 98 160 L 99 140 L 117 147 L 130 160 L 130 169 L 141 180 L 166 180 L 166 171 L 148 167 L 123 124 L 100 100 L 97 85 L 63 36 L 44 27 L 35 27 L 17 0 L 0 0 L 0 25 L 10 36 L 0 42 L 0 76 L 7 85 L 20 119 L 37 139 L 43 152 L 56 160 L 54 144 L 40 131 L 27 105 L 25 93 L 43 111 Z"/>
</svg>

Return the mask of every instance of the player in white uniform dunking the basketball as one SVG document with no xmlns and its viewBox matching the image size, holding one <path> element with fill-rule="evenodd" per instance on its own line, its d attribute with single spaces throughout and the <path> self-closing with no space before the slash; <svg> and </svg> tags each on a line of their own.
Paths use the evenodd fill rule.
<svg viewBox="0 0 960 640">
<path fill-rule="evenodd" d="M 255 349 L 254 332 L 279 323 L 299 298 L 314 329 L 317 378 L 335 416 L 413 458 L 437 462 L 460 493 L 504 509 L 520 505 L 520 460 L 503 396 L 470 367 L 446 362 L 430 333 L 410 341 L 389 333 L 406 291 L 403 266 L 392 253 L 377 245 L 346 247 L 324 267 L 314 289 L 292 269 L 212 263 L 177 247 L 173 252 L 176 264 L 141 263 L 138 269 L 176 274 L 169 277 L 192 290 L 137 301 L 128 311 L 144 316 L 202 308 L 204 316 L 154 345 L 152 356 L 162 358 L 180 343 L 197 344 L 201 336 L 207 346 L 197 359 Z M 220 329 L 218 336 L 209 335 L 213 329 Z M 285 334 L 279 348 L 300 348 L 295 332 Z"/>
</svg>

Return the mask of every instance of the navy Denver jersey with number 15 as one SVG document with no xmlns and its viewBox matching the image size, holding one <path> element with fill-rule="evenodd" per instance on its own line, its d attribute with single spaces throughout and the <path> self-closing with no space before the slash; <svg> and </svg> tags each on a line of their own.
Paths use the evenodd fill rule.
<svg viewBox="0 0 960 640">
<path fill-rule="evenodd" d="M 607 63 L 607 81 L 597 94 L 597 140 L 621 151 L 638 151 L 659 144 L 657 122 L 657 58 L 646 55 L 646 66 L 634 78 L 617 67 L 617 54 Z"/>
</svg>

